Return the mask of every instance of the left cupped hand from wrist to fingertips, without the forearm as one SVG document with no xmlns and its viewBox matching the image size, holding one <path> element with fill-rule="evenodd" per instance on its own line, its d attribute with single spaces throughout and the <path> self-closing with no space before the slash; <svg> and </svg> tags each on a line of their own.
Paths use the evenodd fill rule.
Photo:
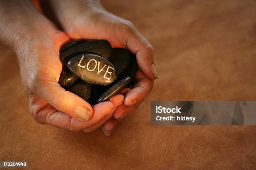
<svg viewBox="0 0 256 170">
<path fill-rule="evenodd" d="M 123 95 L 93 107 L 58 84 L 62 65 L 59 48 L 69 40 L 64 32 L 40 35 L 23 44 L 18 53 L 23 85 L 34 119 L 57 128 L 91 132 L 99 128 L 123 102 Z M 105 122 L 104 122 L 105 121 Z"/>
</svg>

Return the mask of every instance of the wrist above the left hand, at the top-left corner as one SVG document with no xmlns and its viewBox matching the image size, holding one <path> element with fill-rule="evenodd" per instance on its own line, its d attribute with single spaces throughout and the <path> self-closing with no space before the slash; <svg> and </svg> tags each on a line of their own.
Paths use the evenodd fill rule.
<svg viewBox="0 0 256 170">
<path fill-rule="evenodd" d="M 10 13 L 10 11 L 13 11 Z M 18 52 L 25 42 L 43 32 L 51 32 L 52 24 L 32 5 L 30 0 L 0 2 L 0 41 Z"/>
</svg>

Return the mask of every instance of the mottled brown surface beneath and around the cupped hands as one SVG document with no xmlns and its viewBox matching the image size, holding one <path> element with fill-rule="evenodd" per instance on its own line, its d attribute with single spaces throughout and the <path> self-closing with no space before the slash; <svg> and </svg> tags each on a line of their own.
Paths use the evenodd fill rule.
<svg viewBox="0 0 256 170">
<path fill-rule="evenodd" d="M 39 125 L 0 45 L 0 160 L 30 169 L 255 169 L 256 126 L 151 126 L 153 100 L 256 100 L 256 1 L 104 0 L 152 43 L 159 80 L 111 138 Z M 69 168 L 69 167 L 74 168 Z"/>
</svg>

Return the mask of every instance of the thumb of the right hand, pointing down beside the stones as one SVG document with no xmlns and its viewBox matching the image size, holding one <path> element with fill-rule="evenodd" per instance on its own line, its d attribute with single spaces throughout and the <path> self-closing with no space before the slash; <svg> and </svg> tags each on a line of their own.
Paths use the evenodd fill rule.
<svg viewBox="0 0 256 170">
<path fill-rule="evenodd" d="M 123 45 L 136 55 L 138 67 L 147 77 L 150 79 L 158 78 L 152 45 L 138 32 L 133 24 L 128 22 L 127 25 L 125 31 L 119 31 L 119 34 L 121 34 L 119 37 L 124 37 Z"/>
</svg>

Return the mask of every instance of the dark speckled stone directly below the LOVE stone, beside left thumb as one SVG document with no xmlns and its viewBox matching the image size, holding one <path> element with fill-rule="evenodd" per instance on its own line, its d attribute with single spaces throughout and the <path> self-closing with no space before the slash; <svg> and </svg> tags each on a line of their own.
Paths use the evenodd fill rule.
<svg viewBox="0 0 256 170">
<path fill-rule="evenodd" d="M 82 97 L 84 100 L 88 100 L 91 96 L 91 85 L 87 82 L 79 82 L 68 88 L 69 91 Z"/>
</svg>

